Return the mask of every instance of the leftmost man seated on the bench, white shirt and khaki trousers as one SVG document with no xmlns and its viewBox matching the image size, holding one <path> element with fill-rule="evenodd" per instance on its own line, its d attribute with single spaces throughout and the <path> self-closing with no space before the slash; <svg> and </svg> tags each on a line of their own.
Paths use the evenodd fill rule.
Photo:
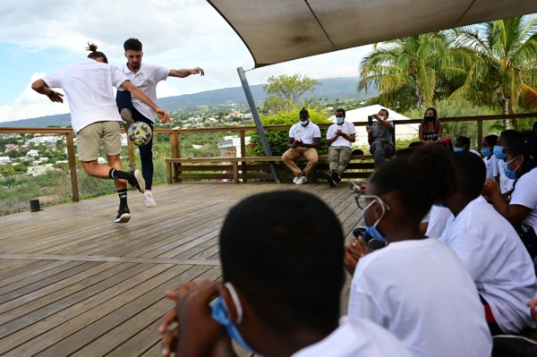
<svg viewBox="0 0 537 357">
<path fill-rule="evenodd" d="M 295 123 L 289 130 L 289 141 L 287 151 L 282 155 L 282 161 L 294 174 L 293 183 L 303 184 L 308 182 L 308 176 L 317 166 L 319 156 L 317 149 L 320 149 L 320 129 L 315 123 L 311 123 L 310 113 L 306 108 L 302 108 L 299 113 L 299 123 Z M 308 164 L 301 170 L 294 160 L 305 157 Z"/>
</svg>

